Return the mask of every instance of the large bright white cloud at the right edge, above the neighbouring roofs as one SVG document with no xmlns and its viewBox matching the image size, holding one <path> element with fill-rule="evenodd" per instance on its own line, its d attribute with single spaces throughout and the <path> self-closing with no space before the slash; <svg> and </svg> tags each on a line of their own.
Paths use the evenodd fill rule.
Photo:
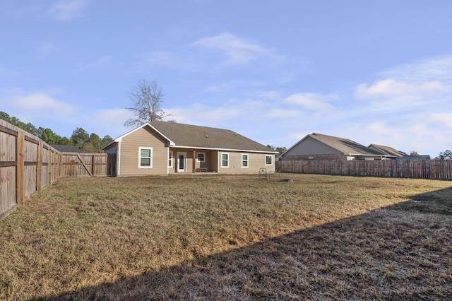
<svg viewBox="0 0 452 301">
<path fill-rule="evenodd" d="M 452 57 L 434 58 L 398 66 L 380 73 L 383 78 L 355 87 L 355 116 L 404 119 L 444 112 L 452 101 Z M 362 102 L 360 100 L 367 100 Z M 404 127 L 402 122 L 398 126 Z M 405 124 L 405 128 L 408 124 Z"/>
</svg>

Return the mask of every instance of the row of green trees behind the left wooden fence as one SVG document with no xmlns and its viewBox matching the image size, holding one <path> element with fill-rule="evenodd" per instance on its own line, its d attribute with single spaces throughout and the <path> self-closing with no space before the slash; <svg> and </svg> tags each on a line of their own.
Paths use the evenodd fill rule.
<svg viewBox="0 0 452 301">
<path fill-rule="evenodd" d="M 10 117 L 6 112 L 3 111 L 0 111 L 0 119 L 13 124 L 14 126 L 17 126 L 19 129 L 28 131 L 28 133 L 39 137 L 47 144 L 76 146 L 76 148 L 79 148 L 81 151 L 84 151 L 86 153 L 103 153 L 102 147 L 113 141 L 112 137 L 108 135 L 100 138 L 100 136 L 95 133 L 89 134 L 81 127 L 75 129 L 72 132 L 72 136 L 70 138 L 59 136 L 54 131 L 52 131 L 52 129 L 44 129 L 41 126 L 36 127 L 30 122 L 21 122 L 17 117 Z"/>
</svg>

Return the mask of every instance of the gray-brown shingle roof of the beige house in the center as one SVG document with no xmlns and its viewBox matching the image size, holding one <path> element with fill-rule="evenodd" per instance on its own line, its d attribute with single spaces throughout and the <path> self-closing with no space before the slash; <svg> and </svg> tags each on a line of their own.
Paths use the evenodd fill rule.
<svg viewBox="0 0 452 301">
<path fill-rule="evenodd" d="M 228 129 L 176 122 L 150 122 L 150 125 L 176 146 L 275 153 L 271 148 Z"/>
</svg>

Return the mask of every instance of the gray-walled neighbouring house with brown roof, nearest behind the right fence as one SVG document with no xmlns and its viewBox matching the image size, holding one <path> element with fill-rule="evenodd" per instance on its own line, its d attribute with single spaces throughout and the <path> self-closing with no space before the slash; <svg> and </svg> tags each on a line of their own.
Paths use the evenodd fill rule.
<svg viewBox="0 0 452 301">
<path fill-rule="evenodd" d="M 312 133 L 285 153 L 282 160 L 385 160 L 396 158 L 347 138 Z"/>
</svg>

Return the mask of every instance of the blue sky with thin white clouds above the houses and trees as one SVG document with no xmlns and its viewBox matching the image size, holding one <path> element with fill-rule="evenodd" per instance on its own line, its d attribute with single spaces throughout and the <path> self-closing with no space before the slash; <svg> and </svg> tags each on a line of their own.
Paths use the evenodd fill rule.
<svg viewBox="0 0 452 301">
<path fill-rule="evenodd" d="M 0 111 L 117 138 L 147 80 L 179 123 L 434 158 L 452 149 L 451 11 L 449 0 L 0 0 Z"/>
</svg>

